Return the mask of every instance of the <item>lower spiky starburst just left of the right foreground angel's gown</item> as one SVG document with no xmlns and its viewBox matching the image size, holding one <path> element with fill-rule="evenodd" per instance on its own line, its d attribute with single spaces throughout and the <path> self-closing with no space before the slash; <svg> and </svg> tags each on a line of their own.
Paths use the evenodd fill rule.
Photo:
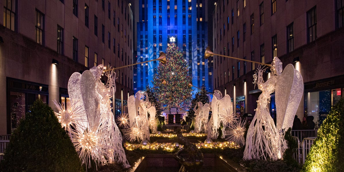
<svg viewBox="0 0 344 172">
<path fill-rule="evenodd" d="M 245 145 L 245 128 L 246 120 L 234 120 L 232 125 L 229 127 L 229 132 L 227 135 L 229 136 L 227 138 L 228 141 L 233 141 L 234 143 L 244 146 Z"/>
</svg>

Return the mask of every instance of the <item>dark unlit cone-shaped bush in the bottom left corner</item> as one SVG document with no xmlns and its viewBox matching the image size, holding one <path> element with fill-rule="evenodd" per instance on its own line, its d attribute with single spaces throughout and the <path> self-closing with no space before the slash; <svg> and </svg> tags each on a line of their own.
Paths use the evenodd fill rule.
<svg viewBox="0 0 344 172">
<path fill-rule="evenodd" d="M 0 171 L 83 171 L 54 111 L 37 100 L 13 132 Z"/>
</svg>

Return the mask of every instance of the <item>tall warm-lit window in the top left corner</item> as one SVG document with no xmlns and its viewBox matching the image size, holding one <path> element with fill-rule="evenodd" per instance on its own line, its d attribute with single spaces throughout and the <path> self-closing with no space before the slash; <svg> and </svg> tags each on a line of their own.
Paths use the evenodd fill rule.
<svg viewBox="0 0 344 172">
<path fill-rule="evenodd" d="M 15 9 L 17 7 L 17 2 L 16 0 L 11 0 L 11 1 L 4 1 L 5 3 L 3 4 L 3 26 L 5 26 L 8 29 L 11 29 L 12 31 L 15 31 L 15 26 L 16 24 L 16 13 Z"/>
</svg>

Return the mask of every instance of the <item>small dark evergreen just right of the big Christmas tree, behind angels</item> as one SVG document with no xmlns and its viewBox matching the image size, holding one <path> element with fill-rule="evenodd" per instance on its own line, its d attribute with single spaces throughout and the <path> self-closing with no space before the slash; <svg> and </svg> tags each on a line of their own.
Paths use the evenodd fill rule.
<svg viewBox="0 0 344 172">
<path fill-rule="evenodd" d="M 191 121 L 194 119 L 195 111 L 193 110 L 193 108 L 197 105 L 199 101 L 201 101 L 203 105 L 209 103 L 209 96 L 204 86 L 202 86 L 201 91 L 197 92 L 195 98 L 191 101 L 191 106 L 189 107 L 189 112 L 187 115 L 189 117 L 189 120 L 186 121 L 187 123 L 191 123 Z"/>
</svg>

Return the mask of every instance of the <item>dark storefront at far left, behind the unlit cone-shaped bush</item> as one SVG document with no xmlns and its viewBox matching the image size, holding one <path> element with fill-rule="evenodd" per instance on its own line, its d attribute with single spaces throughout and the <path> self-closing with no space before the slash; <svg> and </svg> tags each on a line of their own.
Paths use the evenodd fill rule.
<svg viewBox="0 0 344 172">
<path fill-rule="evenodd" d="M 20 119 L 25 118 L 29 106 L 37 99 L 48 104 L 48 86 L 25 80 L 6 78 L 7 83 L 7 132 L 17 128 Z"/>
</svg>

